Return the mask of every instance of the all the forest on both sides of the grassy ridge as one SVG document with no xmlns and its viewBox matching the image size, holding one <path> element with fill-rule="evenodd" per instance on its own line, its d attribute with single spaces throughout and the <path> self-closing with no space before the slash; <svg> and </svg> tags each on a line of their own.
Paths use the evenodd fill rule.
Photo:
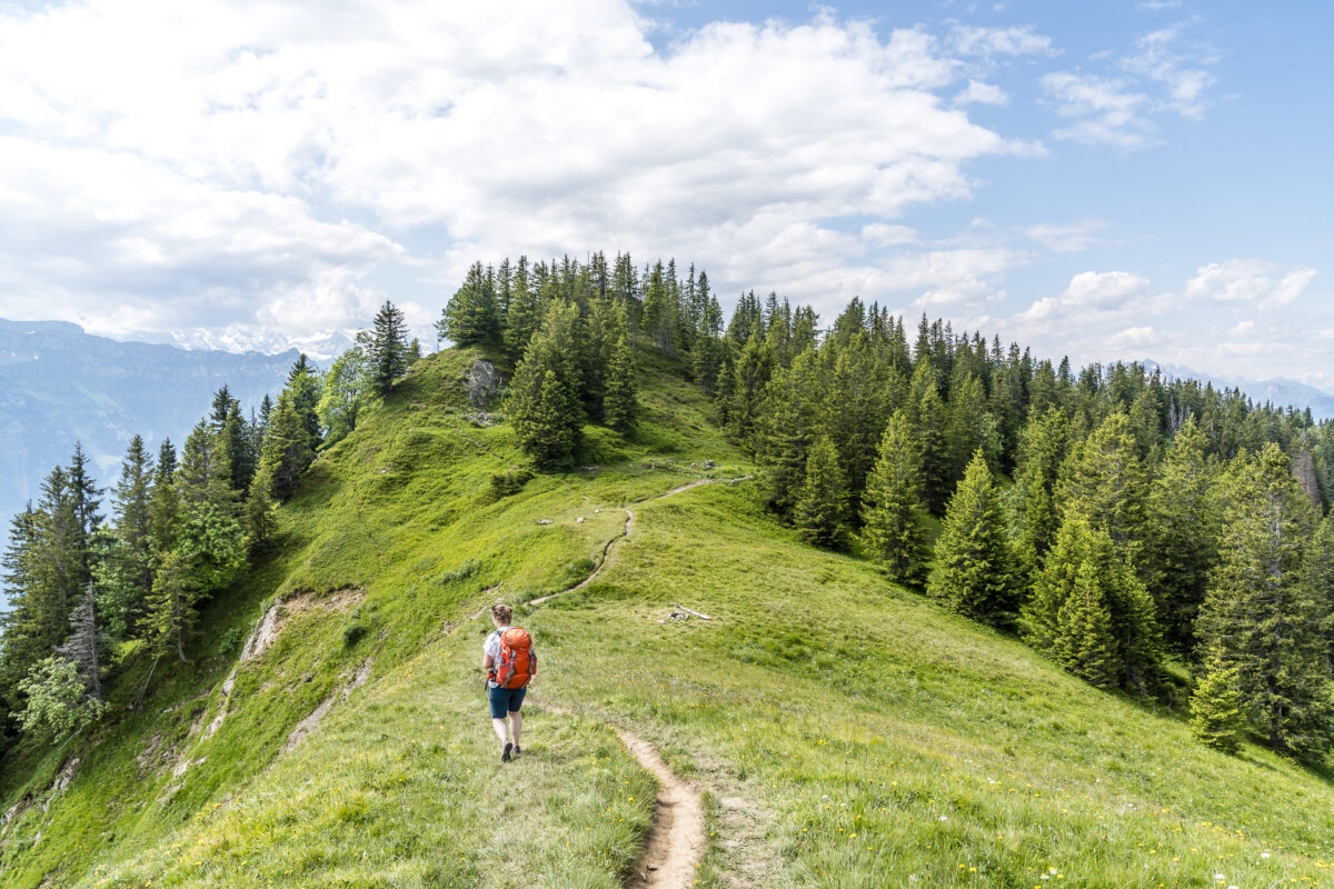
<svg viewBox="0 0 1334 889">
<path fill-rule="evenodd" d="M 750 292 L 724 323 L 707 273 L 624 253 L 476 263 L 438 332 L 500 365 L 494 419 L 539 470 L 575 466 L 587 424 L 635 436 L 638 356 L 660 352 L 807 542 L 1093 685 L 1187 708 L 1211 746 L 1329 750 L 1334 433 L 1309 412 L 1135 364 L 1075 371 L 862 300 L 820 327 Z M 200 604 L 269 545 L 320 449 L 420 357 L 386 303 L 327 372 L 303 356 L 248 417 L 223 388 L 179 453 L 135 437 L 109 489 L 81 450 L 52 469 L 3 560 L 4 744 L 108 718 L 105 685 L 131 661 L 187 661 Z"/>
</svg>

